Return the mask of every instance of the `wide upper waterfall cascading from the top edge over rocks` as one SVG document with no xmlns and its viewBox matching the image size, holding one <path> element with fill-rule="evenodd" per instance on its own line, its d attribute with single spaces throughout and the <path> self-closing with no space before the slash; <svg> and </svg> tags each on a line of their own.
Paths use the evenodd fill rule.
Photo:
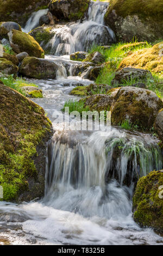
<svg viewBox="0 0 163 256">
<path fill-rule="evenodd" d="M 53 29 L 55 35 L 45 46 L 53 55 L 88 51 L 93 44 L 108 45 L 115 41 L 114 32 L 104 26 L 104 15 L 109 3 L 91 2 L 84 21 L 69 22 Z"/>
</svg>

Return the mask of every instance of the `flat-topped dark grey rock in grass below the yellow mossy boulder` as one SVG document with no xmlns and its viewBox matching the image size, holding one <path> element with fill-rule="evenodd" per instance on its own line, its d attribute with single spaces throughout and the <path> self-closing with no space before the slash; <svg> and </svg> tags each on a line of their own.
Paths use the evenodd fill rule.
<svg viewBox="0 0 163 256">
<path fill-rule="evenodd" d="M 124 68 L 115 73 L 115 78 L 111 83 L 112 85 L 126 84 L 126 81 L 147 80 L 147 78 L 151 78 L 153 80 L 153 76 L 148 70 Z"/>
</svg>

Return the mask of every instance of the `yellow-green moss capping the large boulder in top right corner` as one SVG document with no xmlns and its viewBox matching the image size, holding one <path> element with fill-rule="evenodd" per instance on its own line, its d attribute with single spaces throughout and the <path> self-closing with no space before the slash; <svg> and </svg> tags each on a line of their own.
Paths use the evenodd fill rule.
<svg viewBox="0 0 163 256">
<path fill-rule="evenodd" d="M 141 18 L 152 17 L 154 20 L 163 21 L 163 2 L 160 0 L 110 0 L 106 16 L 116 10 L 119 16 L 137 14 Z"/>
</svg>

